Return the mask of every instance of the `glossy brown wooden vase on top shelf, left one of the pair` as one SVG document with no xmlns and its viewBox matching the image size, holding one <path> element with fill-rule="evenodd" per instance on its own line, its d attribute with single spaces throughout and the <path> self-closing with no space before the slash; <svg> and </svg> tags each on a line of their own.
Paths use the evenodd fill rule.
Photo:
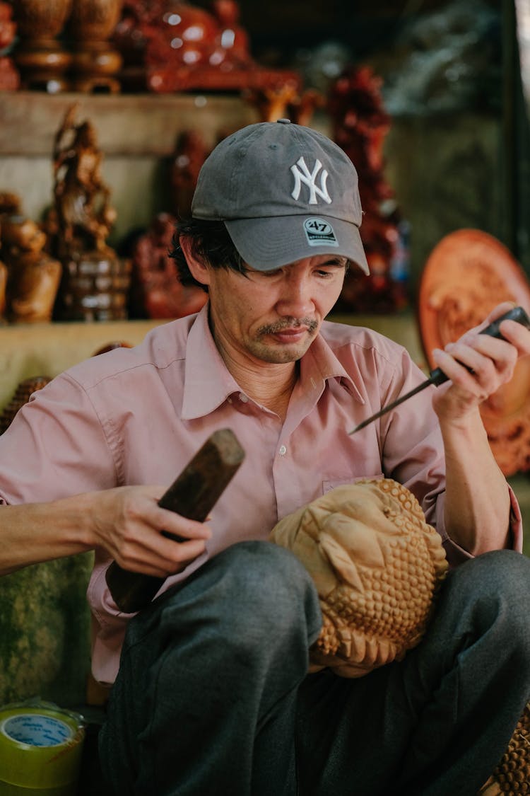
<svg viewBox="0 0 530 796">
<path fill-rule="evenodd" d="M 67 91 L 65 72 L 72 57 L 56 41 L 64 29 L 72 0 L 17 0 L 14 20 L 20 42 L 14 60 L 21 72 L 22 88 L 48 93 Z"/>
</svg>

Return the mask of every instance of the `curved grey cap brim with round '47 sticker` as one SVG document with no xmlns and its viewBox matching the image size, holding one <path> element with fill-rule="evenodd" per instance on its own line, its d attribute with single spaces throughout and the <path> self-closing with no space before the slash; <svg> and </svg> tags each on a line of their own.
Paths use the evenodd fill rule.
<svg viewBox="0 0 530 796">
<path fill-rule="evenodd" d="M 273 271 L 296 260 L 336 254 L 369 274 L 356 224 L 316 214 L 224 220 L 239 254 L 257 271 Z"/>
</svg>

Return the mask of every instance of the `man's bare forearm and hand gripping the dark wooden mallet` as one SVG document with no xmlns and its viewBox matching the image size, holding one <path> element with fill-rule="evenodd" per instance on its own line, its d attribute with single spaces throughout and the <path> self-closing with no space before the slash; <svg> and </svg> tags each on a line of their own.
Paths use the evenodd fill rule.
<svg viewBox="0 0 530 796">
<path fill-rule="evenodd" d="M 123 569 L 165 578 L 202 555 L 208 525 L 158 505 L 162 486 L 118 486 L 48 503 L 0 506 L 0 575 L 95 547 Z M 165 530 L 184 541 L 163 537 Z"/>
</svg>

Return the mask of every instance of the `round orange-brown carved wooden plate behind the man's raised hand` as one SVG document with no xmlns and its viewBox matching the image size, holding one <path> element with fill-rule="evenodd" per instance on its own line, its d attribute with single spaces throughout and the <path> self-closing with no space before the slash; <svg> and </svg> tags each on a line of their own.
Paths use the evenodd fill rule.
<svg viewBox="0 0 530 796">
<path fill-rule="evenodd" d="M 502 301 L 530 313 L 528 277 L 499 240 L 478 229 L 459 229 L 440 240 L 420 279 L 418 325 L 425 356 L 478 326 Z M 509 384 L 482 404 L 493 455 L 505 475 L 530 470 L 530 357 Z"/>
</svg>

